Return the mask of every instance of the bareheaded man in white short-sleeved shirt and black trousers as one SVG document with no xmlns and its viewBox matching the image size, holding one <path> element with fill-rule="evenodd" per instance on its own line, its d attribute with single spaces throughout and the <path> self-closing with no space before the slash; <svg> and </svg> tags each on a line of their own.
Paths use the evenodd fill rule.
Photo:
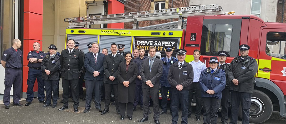
<svg viewBox="0 0 286 124">
<path fill-rule="evenodd" d="M 191 116 L 192 113 L 192 98 L 193 95 L 196 97 L 196 121 L 200 121 L 200 115 L 202 111 L 202 102 L 201 102 L 201 89 L 200 89 L 200 84 L 198 83 L 200 79 L 200 72 L 204 69 L 206 69 L 205 63 L 200 61 L 200 50 L 195 49 L 194 50 L 194 60 L 189 62 L 189 64 L 192 65 L 194 69 L 194 81 L 190 85 L 190 90 L 189 90 L 189 105 L 188 105 L 188 117 Z"/>
</svg>

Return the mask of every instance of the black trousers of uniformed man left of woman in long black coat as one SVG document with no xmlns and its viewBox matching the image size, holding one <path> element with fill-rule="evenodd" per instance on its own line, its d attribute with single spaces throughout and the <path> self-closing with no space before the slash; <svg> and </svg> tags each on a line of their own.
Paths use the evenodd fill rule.
<svg viewBox="0 0 286 124">
<path fill-rule="evenodd" d="M 109 84 L 109 83 L 104 83 L 104 88 L 105 88 L 105 107 L 104 109 L 109 110 L 109 104 L 110 104 L 110 94 L 111 90 L 113 89 L 113 95 L 115 99 L 115 108 L 116 110 L 119 110 L 119 102 L 118 100 L 118 84 Z"/>
</svg>

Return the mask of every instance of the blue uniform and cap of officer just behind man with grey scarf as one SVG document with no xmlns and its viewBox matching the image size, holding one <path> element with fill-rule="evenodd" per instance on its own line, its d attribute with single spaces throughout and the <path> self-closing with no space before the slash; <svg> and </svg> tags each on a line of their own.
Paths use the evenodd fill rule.
<svg viewBox="0 0 286 124">
<path fill-rule="evenodd" d="M 165 51 L 166 52 L 172 52 L 174 47 L 170 47 L 167 46 L 165 47 Z M 171 53 L 172 55 L 172 53 Z M 163 73 L 162 73 L 162 77 L 160 78 L 160 83 L 161 83 L 161 89 L 160 89 L 160 93 L 162 96 L 162 101 L 161 101 L 161 108 L 162 111 L 160 111 L 160 114 L 165 114 L 167 113 L 167 103 L 168 103 L 168 92 L 169 92 L 169 98 L 170 98 L 170 107 L 172 106 L 172 102 L 171 102 L 171 85 L 168 82 L 168 72 L 169 72 L 169 68 L 173 63 L 176 63 L 178 60 L 175 57 L 170 56 L 170 58 L 168 57 L 163 57 L 161 59 L 163 61 Z M 171 113 L 170 109 L 170 113 Z"/>
</svg>

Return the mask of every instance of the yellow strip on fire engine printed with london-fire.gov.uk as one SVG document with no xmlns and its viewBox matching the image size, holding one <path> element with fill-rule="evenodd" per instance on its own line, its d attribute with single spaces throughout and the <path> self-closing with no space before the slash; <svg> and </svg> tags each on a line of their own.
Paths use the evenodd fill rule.
<svg viewBox="0 0 286 124">
<path fill-rule="evenodd" d="M 79 33 L 79 31 L 81 33 Z M 80 35 L 113 35 L 113 36 L 140 36 L 140 37 L 182 37 L 183 31 L 181 29 L 71 29 L 65 30 L 66 34 L 80 34 Z M 153 35 L 151 35 L 153 33 Z M 165 35 L 163 35 L 165 33 Z M 172 33 L 172 35 L 169 35 Z"/>
</svg>

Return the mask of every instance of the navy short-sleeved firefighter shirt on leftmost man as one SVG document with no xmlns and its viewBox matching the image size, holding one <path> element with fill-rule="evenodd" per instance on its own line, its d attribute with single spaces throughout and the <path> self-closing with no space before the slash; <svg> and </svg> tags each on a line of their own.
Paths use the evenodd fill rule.
<svg viewBox="0 0 286 124">
<path fill-rule="evenodd" d="M 22 54 L 23 53 L 20 49 L 14 49 L 13 47 L 10 47 L 3 52 L 1 60 L 6 61 L 5 66 L 7 68 L 21 69 L 21 60 L 23 60 Z"/>
</svg>

